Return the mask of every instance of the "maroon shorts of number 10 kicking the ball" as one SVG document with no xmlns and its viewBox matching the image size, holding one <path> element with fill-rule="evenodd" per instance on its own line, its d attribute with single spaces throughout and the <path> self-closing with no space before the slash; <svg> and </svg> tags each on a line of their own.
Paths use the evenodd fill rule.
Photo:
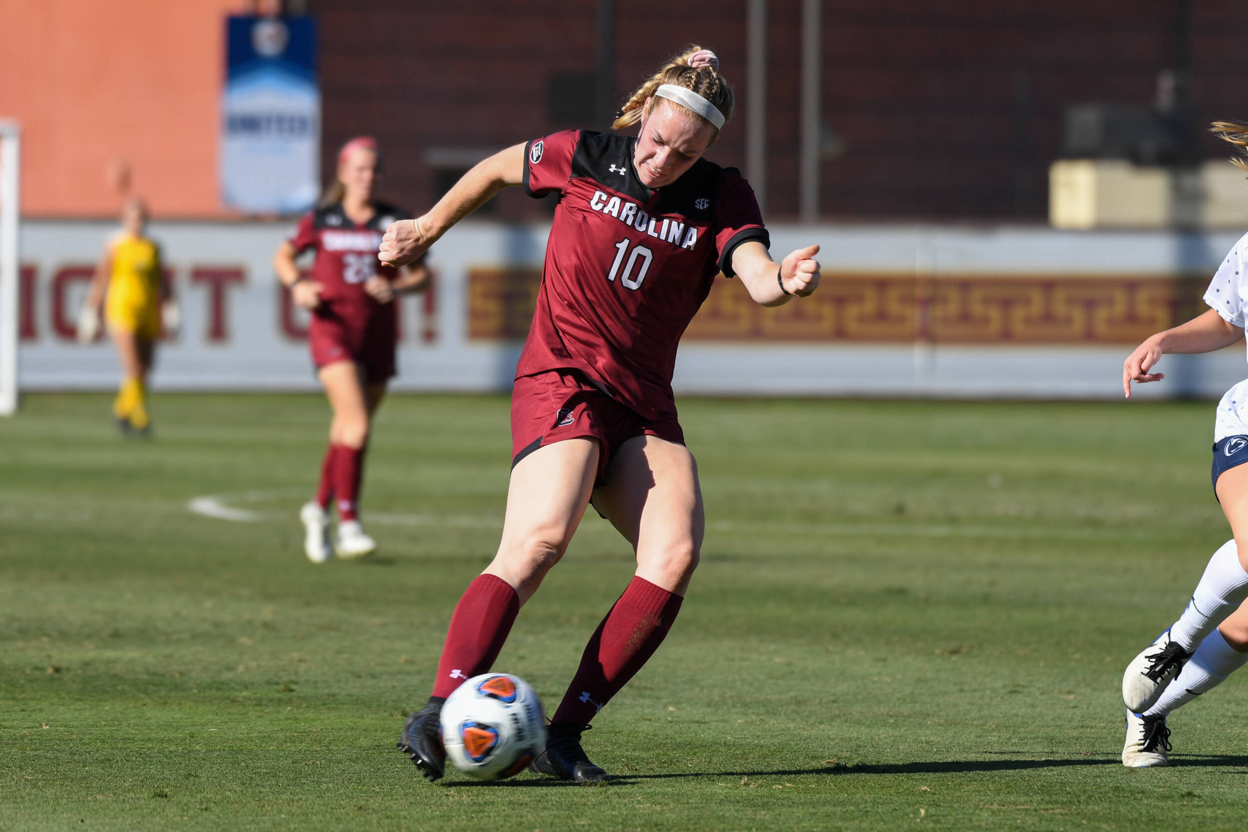
<svg viewBox="0 0 1248 832">
<path fill-rule="evenodd" d="M 644 418 L 595 387 L 577 370 L 552 370 L 515 380 L 512 391 L 512 467 L 544 445 L 568 438 L 598 440 L 598 481 L 607 482 L 607 466 L 619 447 L 634 436 L 658 436 L 685 443 L 675 416 Z"/>
</svg>

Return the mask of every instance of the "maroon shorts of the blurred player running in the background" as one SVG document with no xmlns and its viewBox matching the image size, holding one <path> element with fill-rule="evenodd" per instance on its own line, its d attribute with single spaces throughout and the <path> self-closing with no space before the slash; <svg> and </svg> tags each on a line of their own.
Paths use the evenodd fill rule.
<svg viewBox="0 0 1248 832">
<path fill-rule="evenodd" d="M 352 361 L 361 367 L 367 384 L 393 379 L 398 371 L 394 349 L 398 344 L 394 307 L 336 311 L 318 309 L 308 325 L 308 346 L 317 370 L 336 361 Z"/>
</svg>

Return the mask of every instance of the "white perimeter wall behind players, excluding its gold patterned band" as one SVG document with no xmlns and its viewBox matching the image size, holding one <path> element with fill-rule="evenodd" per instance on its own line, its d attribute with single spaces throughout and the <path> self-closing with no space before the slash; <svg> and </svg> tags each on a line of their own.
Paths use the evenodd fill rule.
<svg viewBox="0 0 1248 832">
<path fill-rule="evenodd" d="M 316 389 L 306 344 L 283 331 L 281 296 L 271 266 L 273 251 L 291 229 L 291 224 L 281 222 L 152 224 L 151 234 L 163 247 L 183 310 L 181 337 L 160 347 L 155 387 Z M 105 222 L 27 220 L 22 225 L 21 261 L 27 275 L 34 272 L 32 314 L 20 347 L 22 389 L 115 386 L 119 371 L 111 346 L 105 341 L 80 345 L 65 326 L 76 319 L 86 291 L 84 272 L 65 270 L 94 264 L 114 230 Z M 545 234 L 545 226 L 469 221 L 436 246 L 431 260 L 438 287 L 432 309 L 426 309 L 419 296 L 403 300 L 404 339 L 396 390 L 510 387 L 519 345 L 467 339 L 467 274 L 469 269 L 539 267 Z M 1212 274 L 1237 237 L 1030 227 L 780 226 L 773 229 L 773 252 L 780 256 L 819 242 L 825 281 L 835 280 L 839 270 L 1174 276 Z M 237 280 L 215 291 L 210 272 L 222 270 Z M 1167 381 L 1141 392 L 1219 396 L 1248 376 L 1243 350 L 1241 345 L 1209 356 L 1168 356 L 1162 365 Z M 698 341 L 681 346 L 675 389 L 743 395 L 1117 397 L 1122 395 L 1121 367 L 1128 351 L 1126 345 Z"/>
</svg>

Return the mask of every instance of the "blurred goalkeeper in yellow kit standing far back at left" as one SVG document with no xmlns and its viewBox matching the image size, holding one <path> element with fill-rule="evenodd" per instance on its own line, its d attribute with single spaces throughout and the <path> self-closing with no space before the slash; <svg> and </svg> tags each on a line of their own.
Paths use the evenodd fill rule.
<svg viewBox="0 0 1248 832">
<path fill-rule="evenodd" d="M 147 207 L 131 199 L 121 211 L 121 232 L 109 241 L 79 315 L 79 340 L 100 332 L 104 304 L 109 335 L 117 347 L 125 377 L 112 402 L 122 433 L 147 436 L 147 374 L 162 330 L 177 329 L 177 306 L 161 266 L 160 246 L 146 236 Z"/>
</svg>

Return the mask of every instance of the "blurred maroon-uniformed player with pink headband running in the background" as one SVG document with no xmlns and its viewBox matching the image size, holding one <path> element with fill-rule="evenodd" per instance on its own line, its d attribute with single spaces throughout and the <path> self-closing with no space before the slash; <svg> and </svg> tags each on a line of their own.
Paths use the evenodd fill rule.
<svg viewBox="0 0 1248 832">
<path fill-rule="evenodd" d="M 328 561 L 334 551 L 339 557 L 363 557 L 377 548 L 358 515 L 368 427 L 386 384 L 394 376 L 394 296 L 421 289 L 428 280 L 422 260 L 403 270 L 377 262 L 382 231 L 406 216 L 373 197 L 377 167 L 376 141 L 361 137 L 343 145 L 337 180 L 273 259 L 295 302 L 312 312 L 312 362 L 333 409 L 321 486 L 316 500 L 300 512 L 306 531 L 303 548 L 317 563 Z M 316 250 L 316 260 L 311 276 L 303 277 L 295 259 L 308 249 Z M 338 507 L 332 547 L 331 500 Z"/>
</svg>

